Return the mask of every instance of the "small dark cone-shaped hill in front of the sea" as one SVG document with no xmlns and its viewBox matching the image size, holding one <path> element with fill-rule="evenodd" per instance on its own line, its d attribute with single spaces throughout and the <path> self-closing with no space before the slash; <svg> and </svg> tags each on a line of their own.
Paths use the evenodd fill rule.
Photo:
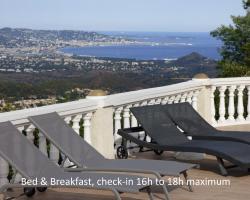
<svg viewBox="0 0 250 200">
<path fill-rule="evenodd" d="M 177 60 L 169 62 L 171 65 L 181 67 L 195 67 L 195 66 L 216 66 L 216 60 L 207 58 L 197 52 L 190 53 L 186 56 L 180 57 Z"/>
</svg>

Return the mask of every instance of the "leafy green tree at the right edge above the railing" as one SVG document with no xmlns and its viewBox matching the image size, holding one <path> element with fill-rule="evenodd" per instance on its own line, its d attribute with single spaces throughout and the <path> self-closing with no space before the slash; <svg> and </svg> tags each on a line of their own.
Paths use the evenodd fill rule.
<svg viewBox="0 0 250 200">
<path fill-rule="evenodd" d="M 217 28 L 213 37 L 223 41 L 219 67 L 222 76 L 250 75 L 250 0 L 244 1 L 245 16 L 231 16 L 233 25 Z"/>
</svg>

